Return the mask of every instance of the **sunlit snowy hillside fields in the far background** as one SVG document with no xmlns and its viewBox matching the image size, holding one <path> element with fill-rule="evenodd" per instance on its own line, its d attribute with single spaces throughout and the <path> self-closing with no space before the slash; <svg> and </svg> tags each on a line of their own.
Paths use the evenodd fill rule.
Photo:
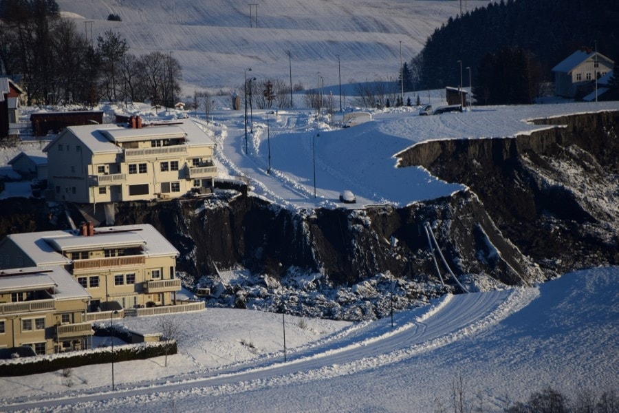
<svg viewBox="0 0 619 413">
<path fill-rule="evenodd" d="M 402 61 L 409 61 L 435 28 L 459 13 L 458 1 L 442 0 L 271 0 L 257 3 L 257 8 L 239 0 L 57 3 L 95 44 L 98 35 L 112 30 L 127 39 L 133 54 L 173 52 L 188 94 L 194 87 L 243 85 L 248 67 L 257 78 L 287 81 L 292 65 L 294 84 L 315 87 L 320 72 L 325 85 L 334 85 L 338 56 L 343 83 L 397 80 L 400 42 Z M 488 1 L 467 4 L 473 10 Z M 122 21 L 107 21 L 110 13 L 119 14 Z"/>
</svg>

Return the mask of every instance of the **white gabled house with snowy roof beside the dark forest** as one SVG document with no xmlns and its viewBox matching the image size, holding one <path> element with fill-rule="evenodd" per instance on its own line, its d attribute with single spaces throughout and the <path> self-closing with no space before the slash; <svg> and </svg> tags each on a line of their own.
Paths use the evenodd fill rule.
<svg viewBox="0 0 619 413">
<path fill-rule="evenodd" d="M 596 78 L 613 71 L 614 61 L 591 49 L 581 49 L 552 68 L 554 94 L 565 98 L 585 96 L 595 88 Z"/>
</svg>

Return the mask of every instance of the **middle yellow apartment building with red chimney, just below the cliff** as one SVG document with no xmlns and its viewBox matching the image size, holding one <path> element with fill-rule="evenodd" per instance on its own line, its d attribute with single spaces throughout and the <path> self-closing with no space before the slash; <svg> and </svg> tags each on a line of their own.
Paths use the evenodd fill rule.
<svg viewBox="0 0 619 413">
<path fill-rule="evenodd" d="M 170 306 L 181 289 L 179 253 L 149 224 L 7 235 L 0 268 L 61 266 L 89 295 L 87 321 L 127 308 Z"/>
</svg>

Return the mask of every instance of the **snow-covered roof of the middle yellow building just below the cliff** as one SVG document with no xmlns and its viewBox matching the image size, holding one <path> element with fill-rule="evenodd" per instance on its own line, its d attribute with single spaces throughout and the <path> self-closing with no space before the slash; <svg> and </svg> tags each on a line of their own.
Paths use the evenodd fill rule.
<svg viewBox="0 0 619 413">
<path fill-rule="evenodd" d="M 43 231 L 7 235 L 36 266 L 66 265 L 71 262 L 61 251 L 89 248 L 127 248 L 143 246 L 144 255 L 178 256 L 179 252 L 150 224 L 109 226 L 95 229 L 95 235 L 80 235 L 76 230 Z"/>
</svg>

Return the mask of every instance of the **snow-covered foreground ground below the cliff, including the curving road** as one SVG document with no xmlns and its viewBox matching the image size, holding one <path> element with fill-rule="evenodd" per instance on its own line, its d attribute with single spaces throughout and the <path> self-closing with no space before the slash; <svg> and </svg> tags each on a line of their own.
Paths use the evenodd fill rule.
<svg viewBox="0 0 619 413">
<path fill-rule="evenodd" d="M 451 383 L 500 412 L 551 386 L 567 396 L 619 386 L 619 268 L 536 288 L 447 295 L 429 306 L 349 324 L 252 310 L 169 315 L 180 350 L 164 358 L 0 378 L 2 410 L 61 412 L 432 412 Z M 156 331 L 156 317 L 119 324 Z M 115 323 L 116 324 L 116 323 Z M 243 344 L 244 343 L 244 344 Z M 254 348 L 250 348 L 251 343 Z M 117 343 L 118 344 L 118 343 Z M 473 406 L 473 404 L 471 404 Z"/>
</svg>

